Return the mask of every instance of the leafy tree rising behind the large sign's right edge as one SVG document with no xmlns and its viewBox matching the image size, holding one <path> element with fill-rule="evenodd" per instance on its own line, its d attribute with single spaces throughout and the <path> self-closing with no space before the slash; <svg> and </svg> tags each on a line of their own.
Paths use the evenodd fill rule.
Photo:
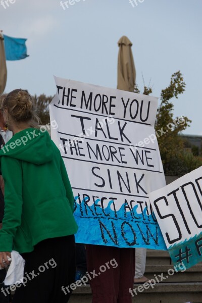
<svg viewBox="0 0 202 303">
<path fill-rule="evenodd" d="M 192 154 L 187 153 L 184 149 L 184 140 L 179 134 L 189 127 L 187 117 L 177 117 L 173 119 L 174 105 L 170 102 L 172 98 L 178 98 L 185 90 L 185 82 L 180 71 L 171 76 L 168 87 L 161 91 L 161 105 L 157 110 L 157 119 L 155 123 L 161 159 L 165 174 L 184 175 L 201 165 L 200 161 Z M 139 92 L 138 86 L 134 88 L 135 92 Z M 151 87 L 144 84 L 143 94 L 150 94 Z M 159 132 L 158 132 L 159 131 Z"/>
</svg>

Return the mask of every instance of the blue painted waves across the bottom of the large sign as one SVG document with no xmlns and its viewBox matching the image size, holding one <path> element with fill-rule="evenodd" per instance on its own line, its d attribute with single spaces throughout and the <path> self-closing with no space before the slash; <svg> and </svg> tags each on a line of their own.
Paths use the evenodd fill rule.
<svg viewBox="0 0 202 303">
<path fill-rule="evenodd" d="M 149 214 L 147 207 L 142 208 L 139 214 L 137 205 L 130 209 L 123 204 L 117 211 L 113 200 L 106 208 L 102 207 L 100 199 L 95 200 L 92 206 L 86 200 L 86 197 L 81 200 L 75 196 L 74 217 L 79 226 L 76 242 L 167 250 L 155 215 Z"/>
</svg>

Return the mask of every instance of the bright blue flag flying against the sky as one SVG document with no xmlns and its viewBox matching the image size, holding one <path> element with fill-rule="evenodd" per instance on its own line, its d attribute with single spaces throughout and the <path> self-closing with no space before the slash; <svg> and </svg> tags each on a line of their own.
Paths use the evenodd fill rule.
<svg viewBox="0 0 202 303">
<path fill-rule="evenodd" d="M 23 38 L 13 38 L 4 35 L 6 60 L 20 60 L 28 57 L 27 47 Z"/>
</svg>

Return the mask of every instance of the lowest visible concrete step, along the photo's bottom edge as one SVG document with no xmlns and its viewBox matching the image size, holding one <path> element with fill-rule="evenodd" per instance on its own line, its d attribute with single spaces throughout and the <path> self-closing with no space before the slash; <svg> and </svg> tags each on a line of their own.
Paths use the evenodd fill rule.
<svg viewBox="0 0 202 303">
<path fill-rule="evenodd" d="M 134 285 L 134 296 L 132 297 L 134 303 L 185 303 L 188 301 L 202 303 L 201 282 L 158 283 L 148 289 L 144 289 L 142 285 L 139 286 Z M 89 285 L 86 285 L 77 287 L 73 291 L 69 303 L 91 303 L 91 300 L 91 289 Z"/>
</svg>

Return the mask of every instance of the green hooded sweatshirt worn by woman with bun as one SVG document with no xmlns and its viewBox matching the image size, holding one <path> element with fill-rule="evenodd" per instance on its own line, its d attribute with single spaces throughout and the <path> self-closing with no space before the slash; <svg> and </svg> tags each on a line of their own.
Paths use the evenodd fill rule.
<svg viewBox="0 0 202 303">
<path fill-rule="evenodd" d="M 77 232 L 66 168 L 47 131 L 16 133 L 0 151 L 0 165 L 5 181 L 0 251 L 30 252 L 44 239 Z"/>
</svg>

